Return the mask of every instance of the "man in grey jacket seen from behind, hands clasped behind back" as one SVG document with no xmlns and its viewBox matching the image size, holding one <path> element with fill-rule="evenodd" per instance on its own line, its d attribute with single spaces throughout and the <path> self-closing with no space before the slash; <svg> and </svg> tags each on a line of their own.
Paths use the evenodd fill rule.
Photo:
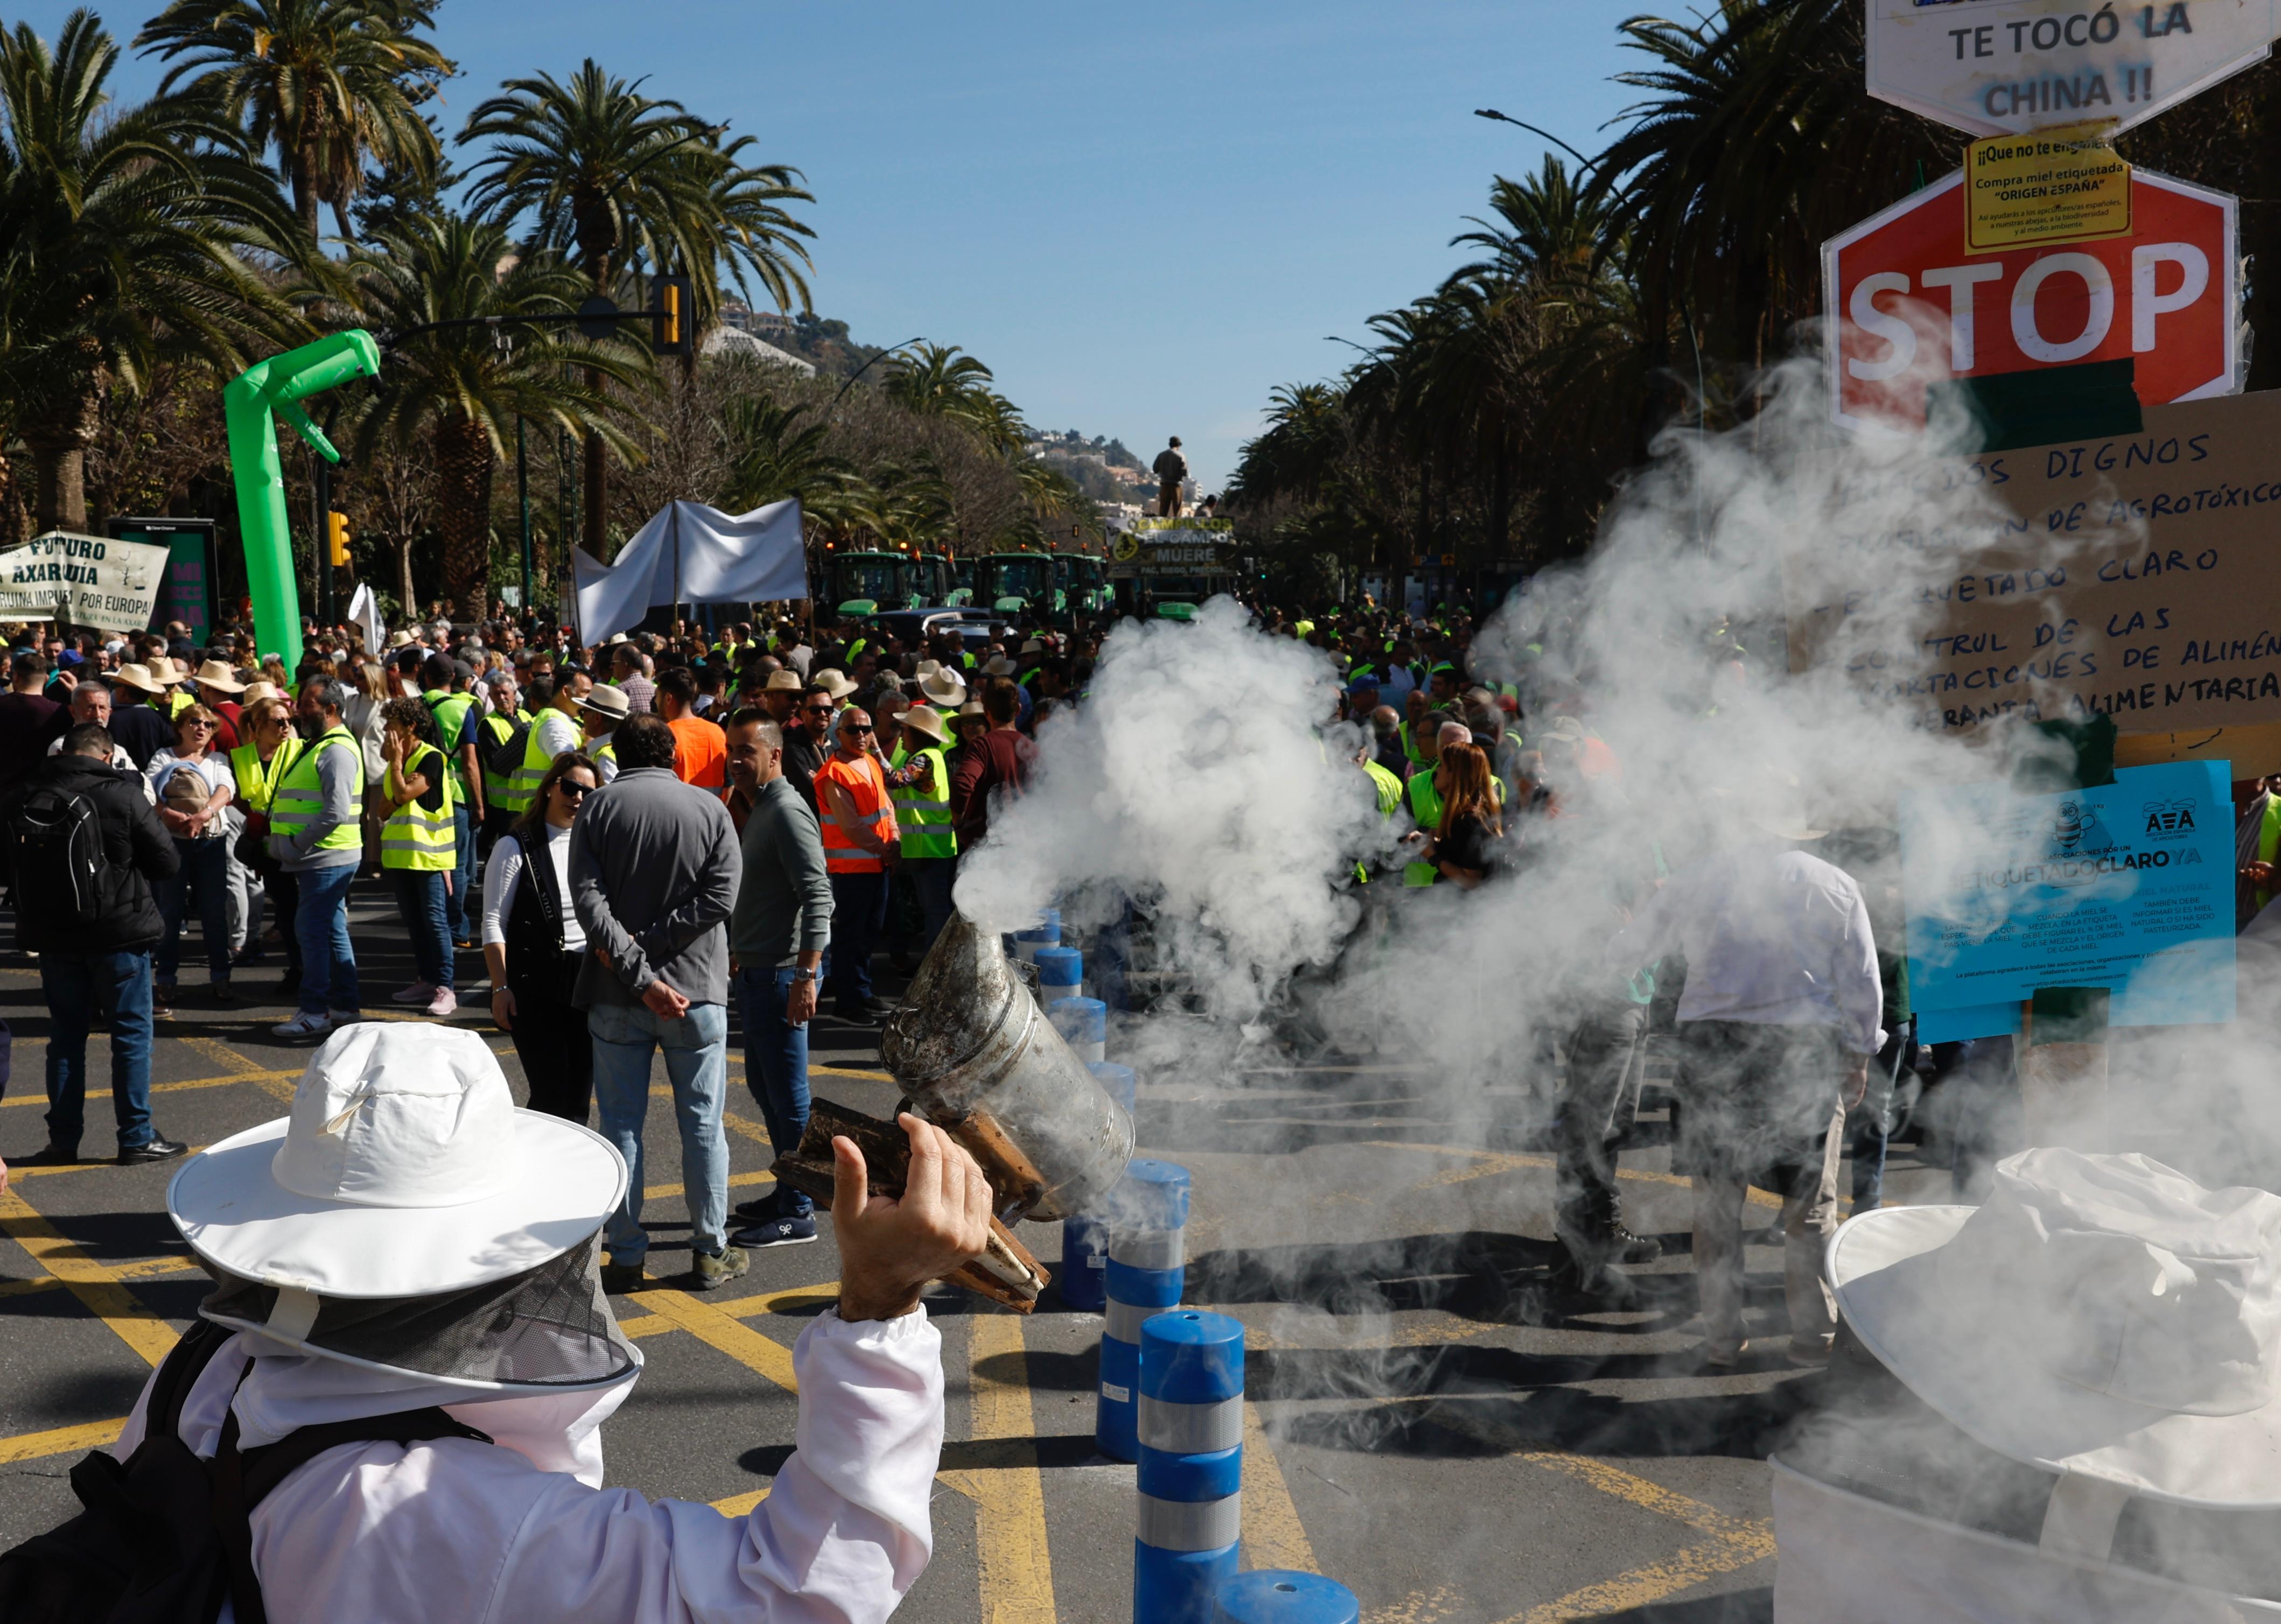
<svg viewBox="0 0 2281 1624">
<path fill-rule="evenodd" d="M 602 1136 L 627 1166 L 625 1202 L 604 1227 L 607 1291 L 641 1284 L 641 1127 L 650 1058 L 666 1051 L 682 1129 L 682 1191 L 696 1286 L 728 1284 L 746 1254 L 728 1245 L 728 931 L 744 869 L 719 798 L 673 776 L 673 730 L 630 716 L 611 739 L 618 778 L 586 796 L 570 828 L 570 901 L 593 956 L 573 1001 L 593 1036 Z"/>
</svg>

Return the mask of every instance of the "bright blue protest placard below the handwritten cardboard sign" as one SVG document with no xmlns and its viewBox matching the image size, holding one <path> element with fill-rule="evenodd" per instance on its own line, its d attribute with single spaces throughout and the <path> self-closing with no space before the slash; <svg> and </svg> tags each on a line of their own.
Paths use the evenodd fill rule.
<svg viewBox="0 0 2281 1624">
<path fill-rule="evenodd" d="M 2117 1026 L 2233 1020 L 2226 762 L 2055 796 L 1905 791 L 1900 871 L 1909 1004 L 1948 1038 L 2014 1029 L 1998 1017 L 2037 988 L 2108 988 Z"/>
</svg>

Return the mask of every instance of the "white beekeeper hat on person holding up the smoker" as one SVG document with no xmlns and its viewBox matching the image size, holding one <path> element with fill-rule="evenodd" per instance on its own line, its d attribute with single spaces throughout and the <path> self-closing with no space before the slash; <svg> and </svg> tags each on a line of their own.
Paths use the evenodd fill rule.
<svg viewBox="0 0 2281 1624">
<path fill-rule="evenodd" d="M 616 1145 L 518 1111 L 477 1033 L 358 1022 L 310 1058 L 292 1115 L 182 1163 L 167 1216 L 192 1252 L 240 1280 L 417 1298 L 561 1257 L 623 1195 Z"/>
</svg>

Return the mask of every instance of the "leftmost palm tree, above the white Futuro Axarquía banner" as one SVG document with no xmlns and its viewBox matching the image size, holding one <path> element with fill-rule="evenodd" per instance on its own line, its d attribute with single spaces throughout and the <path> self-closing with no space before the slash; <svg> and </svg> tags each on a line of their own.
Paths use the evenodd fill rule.
<svg viewBox="0 0 2281 1624">
<path fill-rule="evenodd" d="M 94 11 L 55 50 L 27 23 L 0 36 L 0 415 L 32 452 L 41 527 L 87 527 L 107 390 L 167 358 L 237 370 L 285 331 L 240 258 L 292 242 L 274 182 L 201 103 L 114 114 L 119 55 Z"/>
</svg>

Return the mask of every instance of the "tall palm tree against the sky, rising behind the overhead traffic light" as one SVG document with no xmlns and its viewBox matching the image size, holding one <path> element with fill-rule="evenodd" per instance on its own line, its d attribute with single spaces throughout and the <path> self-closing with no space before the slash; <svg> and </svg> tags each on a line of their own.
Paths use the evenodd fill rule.
<svg viewBox="0 0 2281 1624">
<path fill-rule="evenodd" d="M 591 292 L 609 292 L 634 262 L 677 269 L 703 328 L 721 306 L 721 267 L 750 297 L 753 283 L 789 310 L 807 308 L 814 233 L 785 210 L 814 203 L 785 164 L 746 164 L 750 137 L 721 146 L 675 100 L 641 94 L 641 80 L 604 73 L 588 57 L 570 82 L 547 73 L 509 80 L 468 119 L 461 141 L 488 139 L 472 169 L 470 205 L 522 224 L 531 249 L 570 251 Z M 600 374 L 588 374 L 600 390 Z M 586 445 L 586 550 L 602 557 L 609 465 L 600 433 Z"/>
</svg>

